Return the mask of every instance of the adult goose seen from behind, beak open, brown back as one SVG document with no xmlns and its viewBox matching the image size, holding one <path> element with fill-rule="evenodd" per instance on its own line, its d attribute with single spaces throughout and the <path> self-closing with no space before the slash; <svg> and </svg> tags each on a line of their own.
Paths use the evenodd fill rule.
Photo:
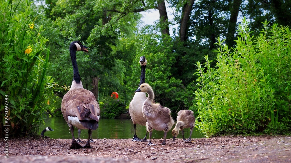
<svg viewBox="0 0 291 163">
<path fill-rule="evenodd" d="M 70 90 L 64 95 L 62 100 L 62 113 L 70 127 L 72 133 L 72 144 L 70 148 L 92 148 L 90 146 L 90 137 L 92 130 L 98 128 L 100 107 L 95 96 L 91 91 L 83 88 L 79 74 L 76 52 L 84 51 L 88 47 L 83 46 L 80 41 L 73 41 L 70 44 L 70 55 L 73 65 L 74 77 Z M 88 129 L 88 141 L 85 146 L 81 146 L 74 137 L 74 126 L 78 129 Z"/>
</svg>

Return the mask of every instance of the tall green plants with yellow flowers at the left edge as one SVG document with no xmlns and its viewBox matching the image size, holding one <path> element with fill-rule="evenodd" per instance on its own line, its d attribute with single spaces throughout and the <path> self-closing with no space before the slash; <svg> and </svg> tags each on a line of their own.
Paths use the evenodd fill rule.
<svg viewBox="0 0 291 163">
<path fill-rule="evenodd" d="M 35 136 L 43 119 L 43 105 L 57 84 L 46 75 L 49 50 L 45 48 L 48 39 L 42 36 L 43 27 L 35 24 L 31 3 L 20 3 L 23 7 L 17 8 L 19 3 L 1 1 L 0 4 L 1 115 L 7 104 L 4 95 L 8 95 L 9 134 Z M 0 119 L 2 127 L 4 116 Z"/>
</svg>

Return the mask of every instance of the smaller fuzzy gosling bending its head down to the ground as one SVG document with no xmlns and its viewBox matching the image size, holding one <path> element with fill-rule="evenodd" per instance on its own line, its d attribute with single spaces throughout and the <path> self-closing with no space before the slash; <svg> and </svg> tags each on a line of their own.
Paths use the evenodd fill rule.
<svg viewBox="0 0 291 163">
<path fill-rule="evenodd" d="M 177 117 L 177 123 L 175 128 L 172 130 L 172 135 L 173 135 L 173 141 L 175 141 L 176 137 L 179 134 L 179 130 L 182 132 L 183 140 L 190 142 L 191 141 L 191 135 L 192 131 L 194 128 L 195 124 L 195 117 L 193 115 L 193 111 L 190 110 L 180 110 L 178 112 L 178 117 Z M 189 128 L 190 127 L 190 136 L 188 140 L 185 139 L 184 137 L 184 128 Z"/>
</svg>

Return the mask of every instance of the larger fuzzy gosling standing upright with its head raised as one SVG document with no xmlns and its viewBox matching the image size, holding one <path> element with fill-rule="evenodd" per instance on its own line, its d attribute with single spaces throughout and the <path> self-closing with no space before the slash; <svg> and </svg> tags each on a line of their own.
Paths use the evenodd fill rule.
<svg viewBox="0 0 291 163">
<path fill-rule="evenodd" d="M 139 86 L 135 92 L 146 92 L 148 93 L 148 98 L 143 103 L 143 115 L 146 117 L 146 128 L 149 132 L 150 139 L 152 137 L 152 129 L 157 131 L 164 131 L 164 142 L 161 145 L 166 144 L 167 132 L 172 128 L 174 120 L 171 117 L 171 111 L 159 103 L 154 103 L 154 91 L 150 85 L 144 83 Z M 148 145 L 155 145 L 149 140 Z"/>
</svg>

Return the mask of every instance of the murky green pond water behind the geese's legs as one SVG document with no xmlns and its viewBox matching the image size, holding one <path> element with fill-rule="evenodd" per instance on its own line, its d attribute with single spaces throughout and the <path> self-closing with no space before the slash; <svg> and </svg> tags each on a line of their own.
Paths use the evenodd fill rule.
<svg viewBox="0 0 291 163">
<path fill-rule="evenodd" d="M 58 138 L 72 139 L 70 128 L 63 117 L 47 117 L 47 119 L 45 119 L 45 125 L 42 124 L 40 126 L 39 135 L 45 127 L 51 127 L 54 130 L 54 131 L 45 132 L 44 134 L 45 136 L 49 136 L 52 139 L 58 139 Z M 203 135 L 201 135 L 199 131 L 195 131 L 195 130 L 196 128 L 194 128 L 191 138 L 203 137 Z M 189 137 L 189 132 L 190 132 L 189 128 L 184 129 L 184 136 L 186 139 Z M 146 133 L 145 126 L 141 126 L 137 124 L 136 135 L 138 135 L 139 138 L 143 138 L 145 136 L 145 133 Z M 133 137 L 133 135 L 134 135 L 134 128 L 133 128 L 133 123 L 131 119 L 100 119 L 99 127 L 97 128 L 97 130 L 93 131 L 92 138 L 93 139 L 103 139 L 103 138 L 130 139 Z M 75 128 L 74 130 L 74 136 L 75 138 L 78 137 L 77 128 Z M 164 132 L 153 130 L 152 137 L 154 139 L 163 138 Z M 149 137 L 147 136 L 147 138 Z M 167 138 L 173 138 L 171 131 L 168 132 Z M 181 132 L 179 133 L 177 138 L 182 138 Z M 80 139 L 88 139 L 88 130 L 81 130 Z"/>
</svg>

